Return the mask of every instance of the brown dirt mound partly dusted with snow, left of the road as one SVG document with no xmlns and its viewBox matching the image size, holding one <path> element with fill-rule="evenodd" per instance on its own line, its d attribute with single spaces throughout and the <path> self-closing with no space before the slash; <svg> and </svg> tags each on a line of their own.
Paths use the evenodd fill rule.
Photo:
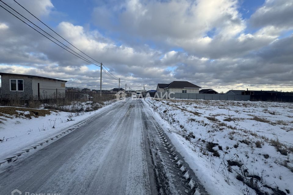
<svg viewBox="0 0 293 195">
<path fill-rule="evenodd" d="M 13 115 L 20 118 L 31 118 L 31 117 L 50 115 L 51 112 L 57 112 L 57 111 L 45 110 L 45 109 L 9 107 L 9 106 L 0 107 L 0 116 L 5 116 L 5 117 L 9 117 L 7 115 Z"/>
</svg>

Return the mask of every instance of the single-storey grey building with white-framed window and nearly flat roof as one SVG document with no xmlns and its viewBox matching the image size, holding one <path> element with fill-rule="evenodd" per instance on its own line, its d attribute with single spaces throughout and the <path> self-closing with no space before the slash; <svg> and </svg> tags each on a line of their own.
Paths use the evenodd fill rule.
<svg viewBox="0 0 293 195">
<path fill-rule="evenodd" d="M 0 73 L 1 97 L 3 99 L 20 98 L 21 100 L 53 99 L 65 97 L 66 80 L 43 76 Z"/>
</svg>

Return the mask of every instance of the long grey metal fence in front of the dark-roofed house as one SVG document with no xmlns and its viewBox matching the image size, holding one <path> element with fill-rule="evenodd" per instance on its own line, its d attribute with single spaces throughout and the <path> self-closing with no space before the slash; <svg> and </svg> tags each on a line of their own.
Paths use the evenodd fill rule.
<svg viewBox="0 0 293 195">
<path fill-rule="evenodd" d="M 190 93 L 157 93 L 157 98 L 176 99 L 204 99 L 204 100 L 235 100 L 248 101 L 250 95 L 227 95 L 227 94 L 190 94 Z"/>
</svg>

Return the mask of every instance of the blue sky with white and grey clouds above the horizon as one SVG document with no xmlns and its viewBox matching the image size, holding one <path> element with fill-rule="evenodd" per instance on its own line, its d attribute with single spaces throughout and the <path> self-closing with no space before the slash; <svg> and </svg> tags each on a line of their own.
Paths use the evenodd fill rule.
<svg viewBox="0 0 293 195">
<path fill-rule="evenodd" d="M 2 1 L 78 52 L 14 1 Z M 102 62 L 127 89 L 189 81 L 218 92 L 293 91 L 293 0 L 16 1 Z M 0 72 L 67 80 L 67 87 L 100 87 L 98 66 L 1 7 Z M 102 73 L 103 89 L 118 88 L 117 80 Z"/>
</svg>

